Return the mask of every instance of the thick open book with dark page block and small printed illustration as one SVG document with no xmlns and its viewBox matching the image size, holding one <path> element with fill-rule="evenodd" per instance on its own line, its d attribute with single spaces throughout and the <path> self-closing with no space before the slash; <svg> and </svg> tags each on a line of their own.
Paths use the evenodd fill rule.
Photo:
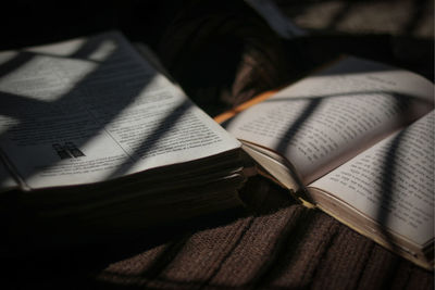
<svg viewBox="0 0 435 290">
<path fill-rule="evenodd" d="M 240 204 L 241 144 L 156 63 L 117 31 L 0 53 L 11 230 L 138 230 Z"/>
</svg>

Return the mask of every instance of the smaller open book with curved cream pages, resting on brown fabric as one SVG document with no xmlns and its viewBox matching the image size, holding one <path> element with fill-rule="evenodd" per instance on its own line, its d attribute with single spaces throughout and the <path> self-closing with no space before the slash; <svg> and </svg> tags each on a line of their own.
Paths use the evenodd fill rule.
<svg viewBox="0 0 435 290">
<path fill-rule="evenodd" d="M 419 75 L 348 56 L 224 126 L 306 204 L 432 268 L 433 93 Z"/>
</svg>

